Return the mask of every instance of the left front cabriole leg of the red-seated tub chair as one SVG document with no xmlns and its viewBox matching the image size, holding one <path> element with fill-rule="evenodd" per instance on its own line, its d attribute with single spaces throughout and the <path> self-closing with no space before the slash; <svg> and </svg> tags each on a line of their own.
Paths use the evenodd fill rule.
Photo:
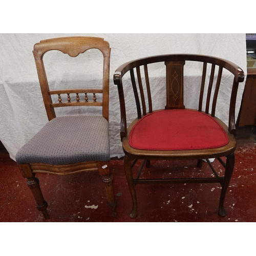
<svg viewBox="0 0 256 256">
<path fill-rule="evenodd" d="M 132 167 L 131 167 L 131 161 L 132 159 L 124 156 L 124 170 L 125 170 L 125 176 L 127 179 L 127 183 L 130 189 L 130 193 L 132 196 L 132 201 L 133 201 L 133 209 L 131 211 L 130 217 L 131 218 L 136 218 L 138 215 L 138 207 L 137 207 L 137 197 L 136 197 L 136 191 L 135 191 L 135 186 L 133 183 L 133 174 L 132 174 Z"/>
</svg>

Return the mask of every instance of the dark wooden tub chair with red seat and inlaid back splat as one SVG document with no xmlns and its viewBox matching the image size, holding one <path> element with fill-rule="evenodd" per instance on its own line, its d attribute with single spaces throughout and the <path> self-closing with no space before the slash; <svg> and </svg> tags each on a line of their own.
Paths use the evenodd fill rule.
<svg viewBox="0 0 256 256">
<path fill-rule="evenodd" d="M 158 70 L 161 65 L 164 78 L 157 80 L 156 74 L 150 74 Z M 188 69 L 185 69 L 187 65 L 189 65 Z M 192 80 L 187 79 L 183 73 L 191 71 L 193 67 L 197 71 L 190 72 L 190 74 L 200 75 L 196 75 L 198 79 L 195 77 Z M 201 71 L 198 72 L 200 69 Z M 221 88 L 224 72 L 225 80 L 227 77 L 233 77 L 231 77 L 230 86 L 225 85 L 229 89 Z M 243 70 L 234 63 L 221 58 L 172 54 L 126 62 L 116 70 L 113 78 L 118 88 L 120 101 L 120 136 L 125 154 L 124 170 L 133 202 L 130 217 L 135 218 L 138 215 L 135 186 L 146 183 L 220 183 L 222 190 L 219 215 L 226 216 L 224 199 L 233 172 L 234 151 L 236 150 L 234 111 L 238 86 L 244 80 Z M 189 85 L 184 87 L 184 81 L 189 81 Z M 163 84 L 163 88 L 160 83 Z M 154 98 L 151 96 L 153 87 L 158 92 Z M 130 88 L 133 88 L 133 93 Z M 198 108 L 185 108 L 183 102 L 185 88 L 189 90 L 185 95 L 191 95 L 187 97 L 188 99 L 197 98 Z M 228 92 L 231 94 L 230 100 L 225 102 L 229 105 L 228 125 L 215 116 L 220 88 L 225 94 Z M 192 93 L 195 90 L 197 90 L 196 96 Z M 130 96 L 134 94 L 135 97 L 134 110 L 131 109 L 131 104 L 129 105 L 129 120 L 126 120 L 128 108 L 125 109 L 125 103 L 127 105 L 125 92 L 129 92 Z M 166 97 L 163 96 L 166 103 L 163 102 L 162 109 L 154 109 L 154 104 L 163 94 L 166 94 Z M 134 120 L 131 119 L 132 113 L 134 113 L 133 117 L 137 116 Z M 128 122 L 131 123 L 129 127 L 127 127 Z M 224 166 L 225 175 L 220 175 L 209 160 L 215 158 Z M 137 160 L 142 162 L 142 166 L 137 170 L 138 174 L 135 178 L 133 168 Z M 214 172 L 214 177 L 201 178 L 194 175 L 176 178 L 170 175 L 159 179 L 151 178 L 151 175 L 140 178 L 144 163 L 147 168 L 150 168 L 151 160 L 197 160 L 198 167 L 202 166 L 202 160 L 206 160 Z M 169 167 L 169 170 L 171 169 L 172 166 Z"/>
</svg>

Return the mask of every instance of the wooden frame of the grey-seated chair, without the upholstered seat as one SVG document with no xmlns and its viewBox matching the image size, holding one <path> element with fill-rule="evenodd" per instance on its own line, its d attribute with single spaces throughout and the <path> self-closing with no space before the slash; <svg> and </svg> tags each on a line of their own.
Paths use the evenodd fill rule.
<svg viewBox="0 0 256 256">
<path fill-rule="evenodd" d="M 51 50 L 58 50 L 62 53 L 68 54 L 71 57 L 76 57 L 89 49 L 98 49 L 103 54 L 103 80 L 102 90 L 99 89 L 71 89 L 50 91 L 43 56 L 46 52 Z M 34 59 L 38 73 L 42 98 L 45 103 L 45 108 L 49 121 L 56 117 L 54 108 L 60 106 L 101 106 L 102 116 L 109 121 L 109 74 L 110 74 L 110 53 L 111 48 L 107 41 L 99 37 L 59 37 L 47 40 L 42 40 L 34 45 Z M 85 94 L 85 100 L 80 100 L 79 94 Z M 95 94 L 102 94 L 102 102 L 95 100 Z M 62 102 L 61 94 L 68 95 L 68 102 Z M 70 94 L 76 95 L 76 102 L 71 102 Z M 93 94 L 93 101 L 88 100 L 87 94 Z M 59 103 L 52 102 L 52 95 L 57 95 Z M 84 97 L 84 96 L 83 96 Z M 112 209 L 112 216 L 116 216 L 116 200 L 113 191 L 113 176 L 111 174 L 110 161 L 106 162 L 79 162 L 67 165 L 51 165 L 42 163 L 25 163 L 18 164 L 20 172 L 24 178 L 28 179 L 28 186 L 36 201 L 36 207 L 42 212 L 42 215 L 48 219 L 47 202 L 42 196 L 39 186 L 39 180 L 35 177 L 36 173 L 49 173 L 58 175 L 75 174 L 78 172 L 86 172 L 91 170 L 98 170 L 102 176 L 102 182 L 106 191 L 106 198 L 108 205 Z"/>
</svg>

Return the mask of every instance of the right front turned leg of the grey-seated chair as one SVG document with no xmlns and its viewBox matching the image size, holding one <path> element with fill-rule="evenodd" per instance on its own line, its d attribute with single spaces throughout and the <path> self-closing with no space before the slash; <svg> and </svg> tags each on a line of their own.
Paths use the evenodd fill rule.
<svg viewBox="0 0 256 256">
<path fill-rule="evenodd" d="M 112 217 L 116 217 L 117 202 L 114 197 L 113 176 L 111 174 L 102 175 L 102 182 L 104 183 L 104 187 L 106 190 L 106 199 L 108 201 L 108 205 L 112 210 Z"/>
</svg>

